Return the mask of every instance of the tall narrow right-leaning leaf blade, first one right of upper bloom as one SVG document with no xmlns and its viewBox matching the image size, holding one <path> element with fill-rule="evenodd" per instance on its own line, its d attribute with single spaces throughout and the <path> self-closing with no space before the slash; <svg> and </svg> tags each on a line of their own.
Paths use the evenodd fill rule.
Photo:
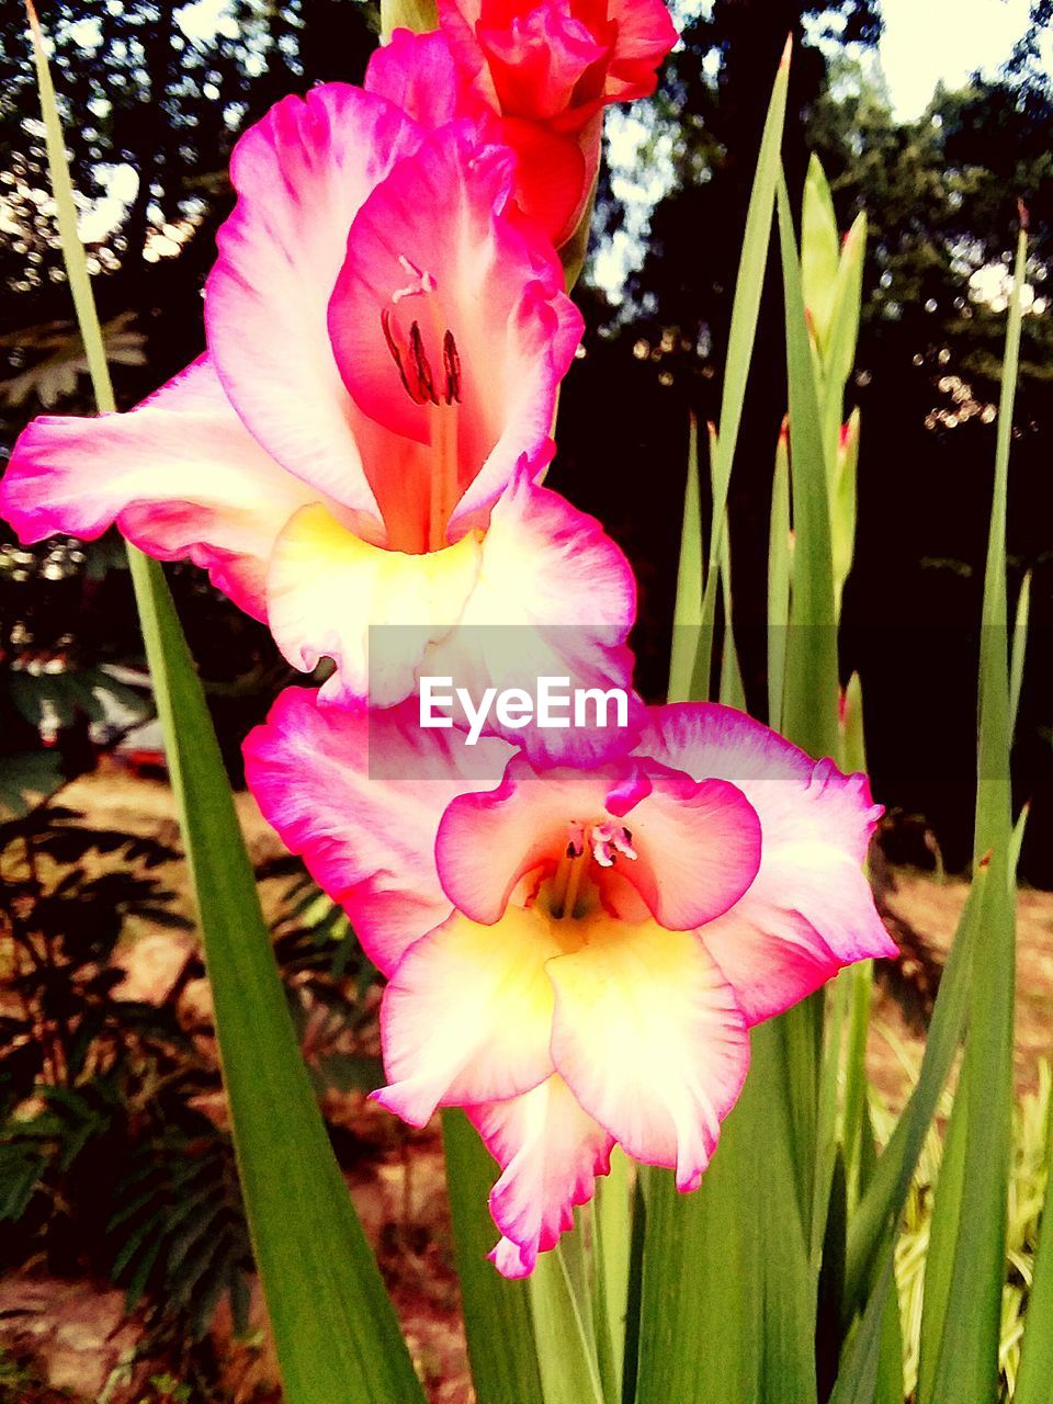
<svg viewBox="0 0 1053 1404">
<path fill-rule="evenodd" d="M 772 204 L 775 183 L 781 167 L 782 131 L 786 122 L 786 88 L 789 84 L 790 45 L 779 63 L 772 86 L 768 115 L 761 135 L 761 150 L 757 160 L 750 206 L 746 213 L 743 254 L 731 305 L 731 327 L 727 337 L 727 361 L 724 364 L 724 386 L 720 397 L 720 458 L 713 465 L 713 511 L 709 542 L 709 569 L 706 571 L 705 594 L 702 597 L 702 628 L 695 660 L 694 698 L 709 696 L 709 673 L 713 657 L 713 625 L 716 621 L 716 563 L 720 559 L 724 531 L 727 529 L 727 489 L 731 480 L 731 463 L 739 442 L 739 425 L 743 418 L 746 382 L 750 376 L 753 347 L 757 337 L 757 319 L 764 291 L 764 272 L 768 264 L 768 243 L 771 240 Z"/>
</svg>

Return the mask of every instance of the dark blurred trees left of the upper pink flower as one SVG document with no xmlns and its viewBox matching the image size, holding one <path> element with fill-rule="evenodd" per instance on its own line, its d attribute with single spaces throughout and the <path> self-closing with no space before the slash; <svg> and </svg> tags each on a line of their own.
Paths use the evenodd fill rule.
<svg viewBox="0 0 1053 1404">
<path fill-rule="evenodd" d="M 131 406 L 202 350 L 201 288 L 232 204 L 239 132 L 289 91 L 361 80 L 376 6 L 38 0 L 38 10 L 118 402 Z M 0 466 L 32 414 L 91 409 L 48 184 L 25 15 L 11 0 L 0 10 Z M 60 733 L 66 768 L 90 760 L 95 665 L 139 650 L 121 564 L 107 542 L 4 549 L 0 534 L 0 754 L 21 755 L 29 724 L 58 717 L 44 729 Z M 270 675 L 274 644 L 192 567 L 173 577 L 202 670 L 223 685 L 216 706 L 232 719 L 223 739 L 236 765 L 265 698 L 233 682 Z"/>
</svg>

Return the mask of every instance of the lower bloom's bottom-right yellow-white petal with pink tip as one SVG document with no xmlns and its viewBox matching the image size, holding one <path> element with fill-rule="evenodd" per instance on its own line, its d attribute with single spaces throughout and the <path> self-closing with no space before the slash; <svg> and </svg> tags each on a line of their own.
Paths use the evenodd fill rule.
<svg viewBox="0 0 1053 1404">
<path fill-rule="evenodd" d="M 695 1189 L 750 1064 L 731 987 L 691 932 L 598 915 L 549 962 L 552 1060 L 581 1106 L 636 1160 Z"/>
</svg>

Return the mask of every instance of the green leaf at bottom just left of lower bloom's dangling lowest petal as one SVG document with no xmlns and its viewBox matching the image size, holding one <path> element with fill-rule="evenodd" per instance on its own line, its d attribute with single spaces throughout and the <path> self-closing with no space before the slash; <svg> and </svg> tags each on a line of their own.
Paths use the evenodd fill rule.
<svg viewBox="0 0 1053 1404">
<path fill-rule="evenodd" d="M 465 1309 L 468 1358 L 477 1404 L 545 1404 L 525 1282 L 507 1282 L 487 1262 L 497 1230 L 487 1196 L 497 1170 L 469 1119 L 442 1113 L 453 1251 Z"/>
</svg>

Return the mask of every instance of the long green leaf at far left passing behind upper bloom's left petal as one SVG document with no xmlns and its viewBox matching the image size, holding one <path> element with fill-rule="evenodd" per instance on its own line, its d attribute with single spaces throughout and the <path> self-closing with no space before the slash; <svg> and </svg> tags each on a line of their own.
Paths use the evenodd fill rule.
<svg viewBox="0 0 1053 1404">
<path fill-rule="evenodd" d="M 62 250 L 100 409 L 114 397 L 44 41 L 29 13 Z M 164 576 L 129 548 L 187 848 L 241 1188 L 289 1404 L 423 1391 L 312 1095 L 205 698 Z"/>
</svg>

